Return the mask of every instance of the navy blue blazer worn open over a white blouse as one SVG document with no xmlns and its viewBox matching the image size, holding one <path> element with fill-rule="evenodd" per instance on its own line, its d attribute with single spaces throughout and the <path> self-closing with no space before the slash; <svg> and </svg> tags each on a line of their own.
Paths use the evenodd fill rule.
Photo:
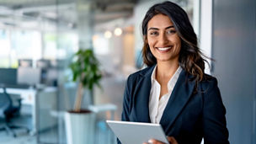
<svg viewBox="0 0 256 144">
<path fill-rule="evenodd" d="M 131 74 L 126 82 L 123 121 L 151 123 L 149 95 L 154 67 Z M 221 100 L 215 77 L 202 81 L 195 88 L 195 80 L 182 70 L 173 93 L 163 111 L 160 124 L 166 136 L 173 136 L 179 144 L 227 144 L 226 109 Z"/>
</svg>

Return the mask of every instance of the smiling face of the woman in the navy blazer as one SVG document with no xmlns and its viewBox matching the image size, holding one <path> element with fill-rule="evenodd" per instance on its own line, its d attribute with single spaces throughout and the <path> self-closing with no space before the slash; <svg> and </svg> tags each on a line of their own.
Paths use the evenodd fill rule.
<svg viewBox="0 0 256 144">
<path fill-rule="evenodd" d="M 147 42 L 160 61 L 179 61 L 181 41 L 168 16 L 157 14 L 147 24 Z"/>
</svg>

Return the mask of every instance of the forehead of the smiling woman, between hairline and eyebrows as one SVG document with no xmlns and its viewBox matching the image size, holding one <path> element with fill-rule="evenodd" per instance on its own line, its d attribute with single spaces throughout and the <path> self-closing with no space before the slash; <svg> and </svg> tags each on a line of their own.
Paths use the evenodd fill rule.
<svg viewBox="0 0 256 144">
<path fill-rule="evenodd" d="M 172 25 L 173 25 L 173 22 L 167 15 L 159 13 L 153 16 L 152 19 L 148 21 L 147 29 L 149 28 L 165 29 L 166 27 L 172 26 Z"/>
</svg>

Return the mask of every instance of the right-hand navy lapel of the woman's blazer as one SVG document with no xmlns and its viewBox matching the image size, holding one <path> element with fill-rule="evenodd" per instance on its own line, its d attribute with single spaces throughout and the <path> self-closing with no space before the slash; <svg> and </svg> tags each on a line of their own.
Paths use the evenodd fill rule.
<svg viewBox="0 0 256 144">
<path fill-rule="evenodd" d="M 177 118 L 192 95 L 193 89 L 195 88 L 195 80 L 189 81 L 189 78 L 184 70 L 180 72 L 178 81 L 173 88 L 171 97 L 168 99 L 168 104 L 160 120 L 160 124 L 163 126 L 165 132 L 169 131 L 168 128 L 173 125 L 173 121 Z"/>
</svg>

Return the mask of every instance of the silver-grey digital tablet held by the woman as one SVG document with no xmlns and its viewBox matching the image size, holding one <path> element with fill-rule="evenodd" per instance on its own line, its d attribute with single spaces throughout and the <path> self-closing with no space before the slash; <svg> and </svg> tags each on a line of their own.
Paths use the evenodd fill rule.
<svg viewBox="0 0 256 144">
<path fill-rule="evenodd" d="M 160 124 L 106 120 L 122 144 L 142 144 L 150 139 L 168 143 Z"/>
</svg>

